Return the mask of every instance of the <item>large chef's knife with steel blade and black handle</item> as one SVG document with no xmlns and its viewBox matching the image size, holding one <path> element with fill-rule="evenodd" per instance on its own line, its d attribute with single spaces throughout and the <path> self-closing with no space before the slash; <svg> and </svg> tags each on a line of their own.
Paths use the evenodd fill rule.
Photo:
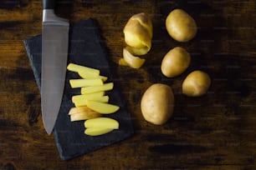
<svg viewBox="0 0 256 170">
<path fill-rule="evenodd" d="M 69 22 L 55 15 L 54 6 L 54 0 L 43 0 L 41 107 L 48 134 L 62 102 L 69 44 Z"/>
</svg>

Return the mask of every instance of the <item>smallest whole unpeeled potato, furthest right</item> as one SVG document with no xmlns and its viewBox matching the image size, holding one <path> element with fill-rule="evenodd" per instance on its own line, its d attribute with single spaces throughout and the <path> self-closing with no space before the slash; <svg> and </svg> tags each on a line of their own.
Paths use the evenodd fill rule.
<svg viewBox="0 0 256 170">
<path fill-rule="evenodd" d="M 194 71 L 182 82 L 182 92 L 189 97 L 199 97 L 205 94 L 211 85 L 211 78 L 206 72 Z"/>
</svg>

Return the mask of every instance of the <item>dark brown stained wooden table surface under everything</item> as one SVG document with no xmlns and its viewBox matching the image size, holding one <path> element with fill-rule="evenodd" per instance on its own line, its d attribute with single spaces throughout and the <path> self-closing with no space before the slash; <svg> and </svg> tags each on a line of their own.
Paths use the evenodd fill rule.
<svg viewBox="0 0 256 170">
<path fill-rule="evenodd" d="M 182 7 L 195 18 L 197 37 L 181 43 L 168 36 L 167 13 Z M 120 143 L 62 161 L 41 117 L 40 94 L 23 39 L 41 33 L 42 2 L 0 2 L 0 169 L 256 169 L 256 2 L 254 0 L 90 1 L 62 0 L 56 9 L 71 23 L 100 24 L 136 133 Z M 151 52 L 141 69 L 120 67 L 122 29 L 131 15 L 148 13 L 154 24 Z M 182 46 L 192 64 L 166 78 L 161 59 Z M 185 97 L 182 80 L 192 70 L 208 72 L 203 97 Z M 141 116 L 141 95 L 152 83 L 175 93 L 173 117 L 155 126 Z"/>
</svg>

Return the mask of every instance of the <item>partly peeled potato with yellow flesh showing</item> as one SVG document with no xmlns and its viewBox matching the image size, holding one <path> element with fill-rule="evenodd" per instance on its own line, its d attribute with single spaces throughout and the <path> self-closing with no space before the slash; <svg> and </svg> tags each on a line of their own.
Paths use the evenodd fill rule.
<svg viewBox="0 0 256 170">
<path fill-rule="evenodd" d="M 133 15 L 124 28 L 125 42 L 134 55 L 144 55 L 151 49 L 153 27 L 146 13 Z"/>
</svg>

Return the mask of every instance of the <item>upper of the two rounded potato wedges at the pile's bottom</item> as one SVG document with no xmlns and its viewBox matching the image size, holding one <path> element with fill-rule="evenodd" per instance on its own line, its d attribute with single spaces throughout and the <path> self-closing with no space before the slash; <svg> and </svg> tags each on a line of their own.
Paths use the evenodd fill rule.
<svg viewBox="0 0 256 170">
<path fill-rule="evenodd" d="M 110 117 L 96 117 L 84 122 L 84 128 L 111 128 L 118 129 L 119 122 Z"/>
</svg>

